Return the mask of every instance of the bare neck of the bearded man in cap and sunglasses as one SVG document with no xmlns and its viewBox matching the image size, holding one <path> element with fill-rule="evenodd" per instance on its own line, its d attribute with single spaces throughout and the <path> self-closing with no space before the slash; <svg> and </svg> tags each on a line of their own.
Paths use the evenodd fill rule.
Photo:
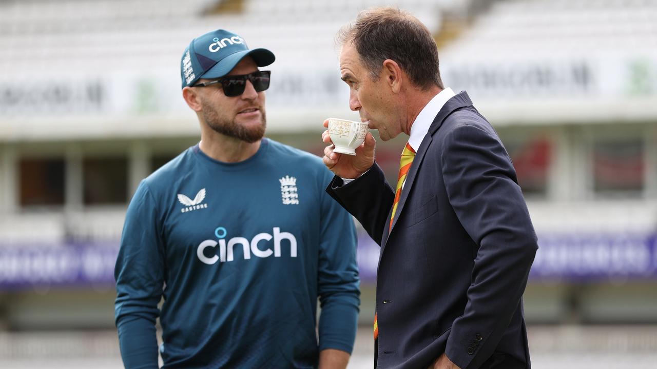
<svg viewBox="0 0 657 369">
<path fill-rule="evenodd" d="M 208 134 L 202 132 L 198 148 L 204 154 L 219 162 L 237 163 L 254 156 L 258 152 L 261 142 L 260 139 L 249 143 L 214 131 Z"/>
</svg>

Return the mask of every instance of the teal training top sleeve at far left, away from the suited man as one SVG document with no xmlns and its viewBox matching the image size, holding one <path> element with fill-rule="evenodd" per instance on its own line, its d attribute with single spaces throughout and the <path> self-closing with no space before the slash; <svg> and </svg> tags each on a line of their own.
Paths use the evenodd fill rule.
<svg viewBox="0 0 657 369">
<path fill-rule="evenodd" d="M 125 368 L 158 368 L 155 330 L 164 284 L 164 247 L 157 204 L 145 182 L 125 215 L 116 259 L 114 318 Z"/>
</svg>

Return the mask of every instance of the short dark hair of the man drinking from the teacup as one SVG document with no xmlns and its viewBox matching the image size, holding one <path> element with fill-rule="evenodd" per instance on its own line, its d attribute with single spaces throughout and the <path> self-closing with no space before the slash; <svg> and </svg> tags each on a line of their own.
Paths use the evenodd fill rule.
<svg viewBox="0 0 657 369">
<path fill-rule="evenodd" d="M 383 62 L 391 59 L 406 72 L 414 85 L 443 88 L 438 69 L 438 47 L 428 28 L 415 16 L 392 7 L 361 11 L 355 22 L 344 26 L 336 37 L 339 45 L 353 43 L 376 81 Z"/>
</svg>

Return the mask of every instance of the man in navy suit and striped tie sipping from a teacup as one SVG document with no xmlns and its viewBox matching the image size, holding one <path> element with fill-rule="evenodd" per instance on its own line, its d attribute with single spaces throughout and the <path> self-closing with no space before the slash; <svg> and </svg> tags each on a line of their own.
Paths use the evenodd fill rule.
<svg viewBox="0 0 657 369">
<path fill-rule="evenodd" d="M 376 368 L 530 368 L 522 293 L 537 239 L 499 137 L 467 93 L 443 87 L 417 18 L 361 12 L 338 41 L 351 110 L 383 141 L 409 135 L 396 188 L 371 134 L 356 156 L 331 144 L 323 158 L 327 192 L 381 246 Z"/>
</svg>

